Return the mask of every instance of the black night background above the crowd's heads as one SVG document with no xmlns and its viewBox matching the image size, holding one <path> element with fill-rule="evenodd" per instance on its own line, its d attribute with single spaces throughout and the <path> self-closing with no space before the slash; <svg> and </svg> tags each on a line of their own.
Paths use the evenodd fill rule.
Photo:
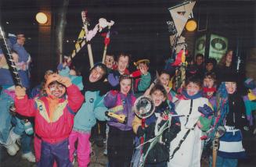
<svg viewBox="0 0 256 167">
<path fill-rule="evenodd" d="M 52 12 L 52 41 L 47 52 L 38 52 L 38 23 L 35 15 L 41 8 L 40 2 L 46 2 L 46 8 Z M 81 10 L 88 9 L 92 29 L 100 17 L 114 20 L 108 53 L 117 55 L 119 52 L 132 54 L 132 61 L 147 58 L 151 60 L 151 69 L 160 69 L 164 59 L 171 55 L 169 33 L 166 21 L 171 20 L 168 8 L 183 1 L 167 0 L 70 0 L 67 11 L 67 27 L 65 31 L 64 55 L 70 55 L 74 49 L 74 42 L 81 30 Z M 56 9 L 60 0 L 2 0 L 1 23 L 6 32 L 23 32 L 27 37 L 25 47 L 34 60 L 32 77 L 34 83 L 41 80 L 46 69 L 56 68 L 57 55 L 55 51 Z M 229 48 L 240 52 L 243 59 L 247 51 L 255 44 L 255 1 L 197 1 L 193 9 L 196 20 L 200 20 L 199 28 L 203 31 L 183 35 L 193 36 L 192 41 L 200 34 L 219 34 L 229 38 Z M 7 23 L 8 22 L 8 23 Z M 67 40 L 69 42 L 67 42 Z M 43 40 L 42 40 L 43 41 Z M 191 41 L 191 40 L 190 40 Z M 237 41 L 240 45 L 237 45 Z M 47 41 L 49 42 L 49 41 Z M 193 42 L 189 43 L 193 48 Z M 100 62 L 103 56 L 103 37 L 99 34 L 92 39 L 92 52 L 95 62 Z M 193 49 L 189 51 L 193 55 Z M 46 52 L 45 52 L 46 54 Z M 41 58 L 39 56 L 45 56 Z M 207 56 L 207 55 L 206 55 Z M 42 62 L 41 60 L 44 59 Z M 46 60 L 45 60 L 46 59 Z M 41 65 L 43 64 L 43 66 Z M 75 57 L 74 65 L 80 70 L 88 70 L 88 55 L 86 47 Z M 40 67 L 40 68 L 39 68 Z"/>
</svg>

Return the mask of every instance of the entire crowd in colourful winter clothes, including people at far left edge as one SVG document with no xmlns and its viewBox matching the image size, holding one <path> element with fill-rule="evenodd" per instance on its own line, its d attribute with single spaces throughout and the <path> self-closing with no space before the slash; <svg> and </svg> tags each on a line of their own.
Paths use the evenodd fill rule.
<svg viewBox="0 0 256 167">
<path fill-rule="evenodd" d="M 256 84 L 247 78 L 246 91 L 240 91 L 232 50 L 220 62 L 201 54 L 186 57 L 186 81 L 178 90 L 173 70 L 152 73 L 150 59 L 140 59 L 130 72 L 125 52 L 106 55 L 88 73 L 63 62 L 30 87 L 24 42 L 23 34 L 9 37 L 22 87 L 13 83 L 0 52 L 0 142 L 9 155 L 21 147 L 22 157 L 38 166 L 73 166 L 77 159 L 82 167 L 89 165 L 95 142 L 106 147 L 109 167 L 198 167 L 202 158 L 209 166 L 235 167 L 247 156 L 242 133 L 254 125 Z M 133 111 L 141 96 L 153 101 L 146 119 Z"/>
</svg>

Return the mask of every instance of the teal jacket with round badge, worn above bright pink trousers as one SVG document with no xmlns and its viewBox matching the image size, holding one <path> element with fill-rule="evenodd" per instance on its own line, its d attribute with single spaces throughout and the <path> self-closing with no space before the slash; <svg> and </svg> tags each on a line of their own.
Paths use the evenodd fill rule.
<svg viewBox="0 0 256 167">
<path fill-rule="evenodd" d="M 107 108 L 103 104 L 103 96 L 99 91 L 86 91 L 85 102 L 74 116 L 74 130 L 91 133 L 92 126 L 96 125 L 96 119 L 105 121 Z"/>
</svg>

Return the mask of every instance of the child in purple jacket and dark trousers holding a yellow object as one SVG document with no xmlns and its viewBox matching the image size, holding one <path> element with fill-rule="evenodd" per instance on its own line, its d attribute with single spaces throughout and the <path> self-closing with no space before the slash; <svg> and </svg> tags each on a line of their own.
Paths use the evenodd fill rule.
<svg viewBox="0 0 256 167">
<path fill-rule="evenodd" d="M 133 152 L 134 133 L 132 132 L 132 120 L 135 113 L 132 106 L 135 96 L 132 94 L 132 77 L 120 76 L 120 91 L 110 91 L 104 98 L 107 108 L 117 115 L 125 115 L 127 122 L 119 123 L 117 119 L 110 118 L 110 127 L 107 141 L 107 157 L 110 166 L 130 166 Z"/>
</svg>

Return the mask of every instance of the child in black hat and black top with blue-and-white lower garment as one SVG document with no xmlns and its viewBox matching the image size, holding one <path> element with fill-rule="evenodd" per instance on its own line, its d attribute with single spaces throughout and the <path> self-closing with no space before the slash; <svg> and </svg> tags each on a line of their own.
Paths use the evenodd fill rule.
<svg viewBox="0 0 256 167">
<path fill-rule="evenodd" d="M 222 78 L 222 84 L 219 86 L 223 87 L 226 94 L 228 94 L 228 103 L 225 103 L 225 108 L 220 110 L 223 119 L 222 123 L 219 124 L 225 126 L 225 134 L 219 138 L 217 167 L 236 167 L 238 159 L 246 157 L 242 136 L 247 137 L 245 133 L 248 131 L 249 122 L 246 119 L 243 98 L 237 91 L 236 77 L 236 74 L 229 73 L 225 78 Z M 241 132 L 243 135 L 241 135 Z M 210 165 L 211 162 L 212 158 L 210 158 Z"/>
</svg>

